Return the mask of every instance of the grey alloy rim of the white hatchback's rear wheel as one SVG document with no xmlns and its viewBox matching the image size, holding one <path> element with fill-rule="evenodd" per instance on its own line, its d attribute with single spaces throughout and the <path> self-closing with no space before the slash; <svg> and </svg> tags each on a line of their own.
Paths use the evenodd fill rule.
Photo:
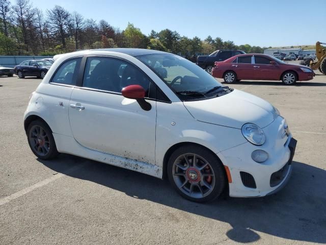
<svg viewBox="0 0 326 245">
<path fill-rule="evenodd" d="M 29 140 L 33 150 L 40 156 L 45 156 L 50 150 L 50 140 L 45 130 L 34 125 L 29 132 Z"/>
</svg>

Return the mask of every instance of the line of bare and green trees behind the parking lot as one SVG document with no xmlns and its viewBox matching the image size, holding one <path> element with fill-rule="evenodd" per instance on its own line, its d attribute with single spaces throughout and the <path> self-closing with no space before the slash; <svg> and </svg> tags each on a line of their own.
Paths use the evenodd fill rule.
<svg viewBox="0 0 326 245">
<path fill-rule="evenodd" d="M 223 48 L 263 53 L 264 48 L 208 36 L 188 38 L 169 29 L 145 35 L 132 23 L 125 30 L 107 21 L 86 19 L 56 5 L 45 12 L 29 0 L 0 0 L 0 55 L 56 55 L 90 48 L 137 47 L 183 56 L 209 54 Z"/>
</svg>

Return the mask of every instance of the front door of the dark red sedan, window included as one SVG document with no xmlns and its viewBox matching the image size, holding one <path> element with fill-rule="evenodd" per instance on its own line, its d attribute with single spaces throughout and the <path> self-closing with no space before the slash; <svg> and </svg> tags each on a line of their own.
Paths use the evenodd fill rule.
<svg viewBox="0 0 326 245">
<path fill-rule="evenodd" d="M 255 55 L 255 74 L 260 80 L 279 80 L 278 64 L 270 64 L 273 61 L 265 56 Z"/>
</svg>

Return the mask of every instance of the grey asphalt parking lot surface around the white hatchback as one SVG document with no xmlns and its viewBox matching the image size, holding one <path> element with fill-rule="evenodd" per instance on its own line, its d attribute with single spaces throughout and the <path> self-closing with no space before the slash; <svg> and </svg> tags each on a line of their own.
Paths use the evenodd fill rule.
<svg viewBox="0 0 326 245">
<path fill-rule="evenodd" d="M 37 159 L 23 113 L 41 80 L 0 77 L 0 244 L 326 243 L 326 76 L 315 72 L 295 86 L 232 84 L 287 118 L 298 141 L 293 172 L 277 194 L 208 204 L 130 170 L 64 154 Z"/>
</svg>

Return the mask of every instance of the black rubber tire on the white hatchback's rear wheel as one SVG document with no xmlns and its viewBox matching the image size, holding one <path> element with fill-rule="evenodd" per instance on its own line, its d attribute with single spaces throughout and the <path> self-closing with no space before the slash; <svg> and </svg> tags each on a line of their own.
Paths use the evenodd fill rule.
<svg viewBox="0 0 326 245">
<path fill-rule="evenodd" d="M 43 129 L 45 134 L 43 131 L 39 131 L 41 134 L 35 135 L 35 132 L 37 132 L 36 129 L 38 127 Z M 42 135 L 42 132 L 43 135 L 45 136 Z M 55 139 L 53 138 L 52 135 L 52 131 L 44 121 L 39 119 L 32 121 L 27 129 L 27 137 L 32 152 L 38 158 L 43 160 L 48 160 L 48 159 L 55 158 L 59 155 Z M 39 148 L 40 150 L 38 151 L 38 149 L 36 148 Z M 46 150 L 43 150 L 43 148 Z"/>
</svg>

